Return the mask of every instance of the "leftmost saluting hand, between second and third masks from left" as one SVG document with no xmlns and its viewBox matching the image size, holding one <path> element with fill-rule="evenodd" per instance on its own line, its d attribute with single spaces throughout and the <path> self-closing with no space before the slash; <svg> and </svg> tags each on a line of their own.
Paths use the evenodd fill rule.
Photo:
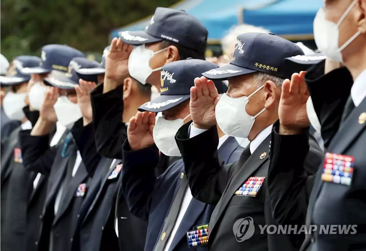
<svg viewBox="0 0 366 251">
<path fill-rule="evenodd" d="M 55 87 L 49 87 L 46 92 L 45 98 L 42 103 L 40 110 L 40 118 L 44 121 L 55 123 L 57 121 L 55 109 L 53 105 L 56 104 L 57 98 L 59 97 L 58 89 Z"/>
</svg>

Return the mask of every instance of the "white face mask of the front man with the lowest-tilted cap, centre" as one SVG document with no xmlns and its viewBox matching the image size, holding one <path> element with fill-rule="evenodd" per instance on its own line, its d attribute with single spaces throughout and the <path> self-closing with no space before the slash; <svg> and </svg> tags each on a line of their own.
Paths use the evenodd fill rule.
<svg viewBox="0 0 366 251">
<path fill-rule="evenodd" d="M 188 114 L 187 117 L 189 116 L 190 114 Z M 176 120 L 166 120 L 163 116 L 157 117 L 153 129 L 153 138 L 155 145 L 166 156 L 182 156 L 182 154 L 180 154 L 178 145 L 175 142 L 175 135 L 179 128 L 183 126 L 184 120 L 186 120 L 187 117 Z"/>
</svg>

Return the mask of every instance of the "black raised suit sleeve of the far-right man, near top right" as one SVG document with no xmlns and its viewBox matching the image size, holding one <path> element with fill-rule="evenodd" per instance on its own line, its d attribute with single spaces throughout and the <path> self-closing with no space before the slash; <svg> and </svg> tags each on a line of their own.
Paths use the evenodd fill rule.
<svg viewBox="0 0 366 251">
<path fill-rule="evenodd" d="M 353 79 L 346 67 L 324 75 L 324 62 L 311 67 L 305 75 L 314 110 L 321 124 L 325 149 L 338 131 L 344 105 L 351 93 Z M 337 88 L 335 88 L 335 84 Z"/>
</svg>

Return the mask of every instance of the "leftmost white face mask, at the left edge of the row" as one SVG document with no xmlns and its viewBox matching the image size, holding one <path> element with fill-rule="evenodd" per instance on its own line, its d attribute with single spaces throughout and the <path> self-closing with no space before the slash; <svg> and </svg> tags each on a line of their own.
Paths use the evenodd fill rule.
<svg viewBox="0 0 366 251">
<path fill-rule="evenodd" d="M 25 118 L 23 108 L 26 106 L 24 99 L 27 93 L 8 92 L 3 100 L 5 115 L 11 120 L 19 120 Z"/>
</svg>

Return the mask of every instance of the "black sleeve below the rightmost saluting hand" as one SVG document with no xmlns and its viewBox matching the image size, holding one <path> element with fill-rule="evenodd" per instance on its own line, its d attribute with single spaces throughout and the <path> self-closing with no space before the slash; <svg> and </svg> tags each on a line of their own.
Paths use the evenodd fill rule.
<svg viewBox="0 0 366 251">
<path fill-rule="evenodd" d="M 272 214 L 279 224 L 302 225 L 314 174 L 320 170 L 324 154 L 313 139 L 309 141 L 309 130 L 298 135 L 280 135 L 278 128 L 279 121 L 272 132 L 268 169 Z"/>
</svg>

